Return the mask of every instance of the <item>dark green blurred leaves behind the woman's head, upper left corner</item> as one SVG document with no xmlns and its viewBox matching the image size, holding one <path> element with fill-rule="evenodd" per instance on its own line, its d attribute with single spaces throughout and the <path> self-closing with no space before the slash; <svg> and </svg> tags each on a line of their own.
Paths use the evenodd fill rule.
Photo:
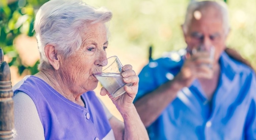
<svg viewBox="0 0 256 140">
<path fill-rule="evenodd" d="M 33 22 L 38 9 L 48 0 L 0 0 L 0 47 L 4 54 L 12 58 L 9 65 L 17 66 L 19 73 L 29 69 L 31 74 L 37 72 L 37 64 L 25 66 L 20 60 L 13 44 L 14 39 L 20 34 L 33 36 Z"/>
</svg>

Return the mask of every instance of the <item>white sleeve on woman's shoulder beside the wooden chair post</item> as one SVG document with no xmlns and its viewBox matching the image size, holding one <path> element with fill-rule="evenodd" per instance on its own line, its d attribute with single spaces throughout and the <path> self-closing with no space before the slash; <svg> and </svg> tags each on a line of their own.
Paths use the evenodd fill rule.
<svg viewBox="0 0 256 140">
<path fill-rule="evenodd" d="M 45 140 L 36 105 L 24 92 L 14 97 L 14 140 Z"/>
</svg>

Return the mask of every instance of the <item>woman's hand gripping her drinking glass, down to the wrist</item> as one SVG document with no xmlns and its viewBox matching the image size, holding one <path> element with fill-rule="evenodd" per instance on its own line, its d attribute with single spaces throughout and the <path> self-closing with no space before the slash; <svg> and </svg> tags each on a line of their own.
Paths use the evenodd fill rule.
<svg viewBox="0 0 256 140">
<path fill-rule="evenodd" d="M 109 98 L 111 98 L 112 102 L 116 105 L 121 114 L 126 114 L 129 111 L 138 91 L 139 77 L 132 68 L 133 67 L 131 65 L 125 65 L 122 68 L 121 75 L 123 77 L 123 81 L 125 83 L 133 84 L 131 86 L 124 86 L 124 90 L 126 91 L 124 94 L 114 98 L 104 87 L 102 87 L 100 91 L 100 95 L 108 95 Z"/>
</svg>

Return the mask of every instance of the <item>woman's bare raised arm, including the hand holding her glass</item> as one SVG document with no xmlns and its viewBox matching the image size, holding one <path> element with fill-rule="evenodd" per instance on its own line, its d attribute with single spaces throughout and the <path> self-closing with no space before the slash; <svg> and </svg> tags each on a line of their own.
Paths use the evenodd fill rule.
<svg viewBox="0 0 256 140">
<path fill-rule="evenodd" d="M 133 105 L 133 100 L 138 91 L 139 77 L 132 70 L 131 65 L 123 66 L 122 71 L 124 82 L 133 83 L 131 86 L 124 86 L 126 91 L 124 94 L 114 98 L 104 87 L 100 91 L 101 95 L 108 95 L 111 98 L 123 117 L 123 122 L 112 117 L 109 119 L 109 123 L 114 131 L 116 140 L 148 140 L 147 130 Z"/>
</svg>

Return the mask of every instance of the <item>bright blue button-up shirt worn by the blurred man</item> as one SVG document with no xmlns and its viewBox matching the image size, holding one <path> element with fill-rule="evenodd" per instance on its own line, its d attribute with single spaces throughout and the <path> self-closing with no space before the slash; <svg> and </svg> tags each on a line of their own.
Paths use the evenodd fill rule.
<svg viewBox="0 0 256 140">
<path fill-rule="evenodd" d="M 139 74 L 139 91 L 134 100 L 172 80 L 183 65 L 183 56 L 151 61 Z M 148 128 L 151 140 L 255 140 L 256 79 L 248 66 L 225 52 L 220 60 L 220 75 L 211 102 L 196 79 L 184 87 Z"/>
</svg>

